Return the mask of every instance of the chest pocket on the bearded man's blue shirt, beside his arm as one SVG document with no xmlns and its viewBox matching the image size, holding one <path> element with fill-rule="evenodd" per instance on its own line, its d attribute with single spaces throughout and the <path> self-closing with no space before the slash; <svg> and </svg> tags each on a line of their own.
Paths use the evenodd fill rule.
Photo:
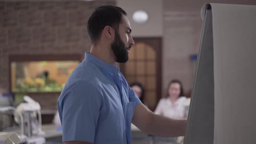
<svg viewBox="0 0 256 144">
<path fill-rule="evenodd" d="M 126 129 L 126 136 L 128 144 L 131 144 L 131 120 L 135 110 L 135 101 L 128 102 L 126 107 L 126 118 L 125 118 L 125 129 Z"/>
</svg>

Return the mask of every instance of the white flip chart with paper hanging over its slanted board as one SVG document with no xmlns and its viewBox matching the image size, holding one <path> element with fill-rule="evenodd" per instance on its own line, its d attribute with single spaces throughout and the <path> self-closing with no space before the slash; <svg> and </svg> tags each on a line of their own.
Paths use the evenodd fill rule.
<svg viewBox="0 0 256 144">
<path fill-rule="evenodd" d="M 256 6 L 210 3 L 184 144 L 256 144 Z"/>
</svg>

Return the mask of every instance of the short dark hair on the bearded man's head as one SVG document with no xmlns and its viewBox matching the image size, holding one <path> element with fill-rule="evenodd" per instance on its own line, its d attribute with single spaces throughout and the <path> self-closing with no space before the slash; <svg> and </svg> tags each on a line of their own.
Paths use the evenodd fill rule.
<svg viewBox="0 0 256 144">
<path fill-rule="evenodd" d="M 105 5 L 95 8 L 87 22 L 87 31 L 92 43 L 96 43 L 105 26 L 111 26 L 118 32 L 122 14 L 127 15 L 121 7 Z"/>
</svg>

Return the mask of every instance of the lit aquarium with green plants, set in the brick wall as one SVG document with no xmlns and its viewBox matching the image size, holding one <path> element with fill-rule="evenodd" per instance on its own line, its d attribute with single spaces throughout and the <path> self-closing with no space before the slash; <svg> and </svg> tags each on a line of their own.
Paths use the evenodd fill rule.
<svg viewBox="0 0 256 144">
<path fill-rule="evenodd" d="M 79 60 L 10 62 L 11 92 L 61 92 Z"/>
</svg>

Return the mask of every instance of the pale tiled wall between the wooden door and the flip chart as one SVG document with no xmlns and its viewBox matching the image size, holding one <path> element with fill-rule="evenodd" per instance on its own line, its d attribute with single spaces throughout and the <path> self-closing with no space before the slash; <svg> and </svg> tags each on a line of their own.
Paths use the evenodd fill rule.
<svg viewBox="0 0 256 144">
<path fill-rule="evenodd" d="M 256 0 L 163 0 L 163 92 L 174 78 L 181 79 L 185 92 L 192 88 L 194 70 L 189 56 L 199 49 L 200 10 L 205 3 L 256 5 Z"/>
</svg>

